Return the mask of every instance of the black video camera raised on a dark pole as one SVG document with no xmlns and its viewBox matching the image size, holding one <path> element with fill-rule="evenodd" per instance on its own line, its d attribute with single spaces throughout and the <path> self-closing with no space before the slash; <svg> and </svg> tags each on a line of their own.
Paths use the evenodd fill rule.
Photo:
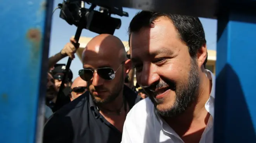
<svg viewBox="0 0 256 143">
<path fill-rule="evenodd" d="M 85 8 L 85 4 L 90 5 L 89 9 Z M 99 7 L 99 11 L 95 8 Z M 98 34 L 114 34 L 116 29 L 121 27 L 121 19 L 111 17 L 111 14 L 128 17 L 128 13 L 123 11 L 123 7 L 114 7 L 109 5 L 107 0 L 63 0 L 58 4 L 58 8 L 61 9 L 60 17 L 70 25 L 77 26 L 74 39 L 78 42 L 83 29 Z M 73 43 L 76 48 L 78 44 Z M 71 65 L 71 58 L 68 59 L 66 70 L 62 78 L 61 87 L 57 95 L 53 111 L 57 111 L 63 106 L 61 99 L 63 99 L 62 90 L 64 88 L 64 81 L 67 77 L 67 71 Z"/>
</svg>

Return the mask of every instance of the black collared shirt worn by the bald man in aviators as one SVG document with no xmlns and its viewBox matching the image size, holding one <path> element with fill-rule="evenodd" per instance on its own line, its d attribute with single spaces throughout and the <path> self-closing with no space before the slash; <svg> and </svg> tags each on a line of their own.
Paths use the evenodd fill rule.
<svg viewBox="0 0 256 143">
<path fill-rule="evenodd" d="M 123 94 L 130 108 L 140 97 L 124 86 Z M 89 92 L 76 98 L 47 121 L 43 143 L 120 143 L 122 133 L 97 110 Z"/>
</svg>

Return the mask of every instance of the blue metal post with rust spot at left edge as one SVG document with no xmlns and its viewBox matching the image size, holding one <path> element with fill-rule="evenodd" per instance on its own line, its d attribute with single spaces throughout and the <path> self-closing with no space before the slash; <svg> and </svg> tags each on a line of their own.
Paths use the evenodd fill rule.
<svg viewBox="0 0 256 143">
<path fill-rule="evenodd" d="M 52 0 L 0 4 L 0 142 L 42 140 Z"/>
</svg>

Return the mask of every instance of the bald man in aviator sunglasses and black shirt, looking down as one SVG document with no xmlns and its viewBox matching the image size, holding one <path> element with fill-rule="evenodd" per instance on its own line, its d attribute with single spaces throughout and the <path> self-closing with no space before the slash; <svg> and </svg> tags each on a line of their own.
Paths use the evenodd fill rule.
<svg viewBox="0 0 256 143">
<path fill-rule="evenodd" d="M 131 68 L 118 37 L 94 37 L 82 54 L 81 79 L 88 92 L 55 112 L 44 128 L 44 143 L 120 143 L 123 124 L 140 97 L 124 84 Z"/>
</svg>

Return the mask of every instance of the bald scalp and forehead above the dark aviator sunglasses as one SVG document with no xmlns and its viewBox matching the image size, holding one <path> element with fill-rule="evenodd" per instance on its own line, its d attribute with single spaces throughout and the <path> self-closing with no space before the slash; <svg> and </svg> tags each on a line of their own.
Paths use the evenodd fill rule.
<svg viewBox="0 0 256 143">
<path fill-rule="evenodd" d="M 118 37 L 110 34 L 100 34 L 93 37 L 86 45 L 82 58 L 85 61 L 88 61 L 88 58 L 127 60 L 124 44 Z"/>
</svg>

